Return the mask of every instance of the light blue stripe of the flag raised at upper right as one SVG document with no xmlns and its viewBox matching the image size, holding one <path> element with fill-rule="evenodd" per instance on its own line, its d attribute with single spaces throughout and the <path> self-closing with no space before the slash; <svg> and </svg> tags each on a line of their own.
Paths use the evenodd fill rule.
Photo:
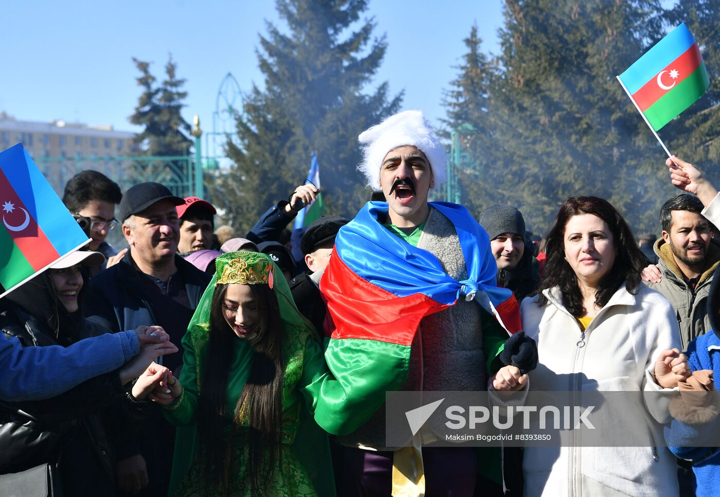
<svg viewBox="0 0 720 497">
<path fill-rule="evenodd" d="M 627 70 L 618 76 L 630 94 L 642 88 L 657 73 L 665 69 L 667 64 L 683 55 L 695 43 L 693 33 L 685 23 L 680 24 L 667 36 L 657 42 L 650 50 L 639 58 Z"/>
</svg>

